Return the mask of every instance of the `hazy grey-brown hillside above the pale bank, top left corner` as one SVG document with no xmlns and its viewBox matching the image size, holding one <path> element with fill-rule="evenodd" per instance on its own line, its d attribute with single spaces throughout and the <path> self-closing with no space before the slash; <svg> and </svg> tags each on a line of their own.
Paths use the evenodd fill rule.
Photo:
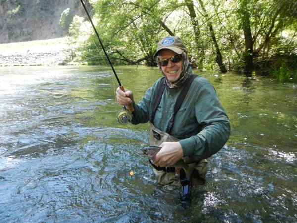
<svg viewBox="0 0 297 223">
<path fill-rule="evenodd" d="M 86 17 L 80 0 L 0 0 L 0 44 L 62 37 L 59 20 L 67 8 Z"/>
</svg>

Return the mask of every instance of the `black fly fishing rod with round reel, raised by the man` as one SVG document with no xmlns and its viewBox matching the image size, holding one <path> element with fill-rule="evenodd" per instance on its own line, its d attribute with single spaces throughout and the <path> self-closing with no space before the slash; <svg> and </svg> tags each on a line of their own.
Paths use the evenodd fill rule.
<svg viewBox="0 0 297 223">
<path fill-rule="evenodd" d="M 103 46 L 103 43 L 102 43 L 102 41 L 101 41 L 101 39 L 100 39 L 100 37 L 99 37 L 99 34 L 98 34 L 98 32 L 97 32 L 97 30 L 96 30 L 94 24 L 93 24 L 93 21 L 92 21 L 92 19 L 91 19 L 91 16 L 90 16 L 90 14 L 89 14 L 89 12 L 88 12 L 88 10 L 87 10 L 87 8 L 86 8 L 86 6 L 85 6 L 83 0 L 80 0 L 80 2 L 82 3 L 82 5 L 83 5 L 83 7 L 84 7 L 84 9 L 85 9 L 85 12 L 86 12 L 86 14 L 87 14 L 87 16 L 88 16 L 88 18 L 89 18 L 91 24 L 92 24 L 92 27 L 93 27 L 93 29 L 94 29 L 94 31 L 95 31 L 95 34 L 96 34 L 96 36 L 97 36 L 97 38 L 98 38 L 98 40 L 99 40 L 99 43 L 100 43 L 100 45 L 101 45 L 101 47 L 102 47 L 102 49 L 103 49 L 104 54 L 105 54 L 105 56 L 106 56 L 106 58 L 107 58 L 107 60 L 108 60 L 108 62 L 109 62 L 109 65 L 111 66 L 112 72 L 113 72 L 113 74 L 114 74 L 114 76 L 115 76 L 115 78 L 116 78 L 116 80 L 117 80 L 117 82 L 118 82 L 118 84 L 119 84 L 120 89 L 121 89 L 123 92 L 125 92 L 125 89 L 124 89 L 123 85 L 121 84 L 120 79 L 118 78 L 118 76 L 117 76 L 117 74 L 116 74 L 116 72 L 115 72 L 115 70 L 114 70 L 114 68 L 113 68 L 113 65 L 112 65 L 112 63 L 111 63 L 111 61 L 110 61 L 110 59 L 109 59 L 109 56 L 108 56 L 108 54 L 107 54 L 107 52 L 106 52 L 106 50 L 105 50 L 105 48 L 104 48 L 104 46 Z M 125 108 L 125 106 L 124 106 L 124 110 L 119 111 L 119 112 L 117 113 L 117 120 L 118 120 L 118 122 L 121 123 L 121 124 L 126 124 L 126 123 L 128 123 L 128 122 L 131 122 L 131 120 L 132 120 L 132 114 L 131 114 L 131 112 L 134 111 L 134 108 L 133 108 L 132 105 L 127 105 L 127 108 L 128 108 L 128 111 L 126 110 L 126 108 Z"/>
</svg>

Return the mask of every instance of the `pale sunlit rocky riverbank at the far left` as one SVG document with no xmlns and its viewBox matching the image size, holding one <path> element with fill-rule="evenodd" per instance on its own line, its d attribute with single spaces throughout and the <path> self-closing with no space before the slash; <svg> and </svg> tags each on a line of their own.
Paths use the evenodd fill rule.
<svg viewBox="0 0 297 223">
<path fill-rule="evenodd" d="M 56 66 L 68 57 L 67 37 L 0 44 L 0 66 Z"/>
</svg>

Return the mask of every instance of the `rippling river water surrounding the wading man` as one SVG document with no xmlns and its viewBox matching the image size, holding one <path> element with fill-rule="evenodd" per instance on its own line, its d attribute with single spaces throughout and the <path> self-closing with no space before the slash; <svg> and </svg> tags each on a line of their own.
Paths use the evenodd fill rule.
<svg viewBox="0 0 297 223">
<path fill-rule="evenodd" d="M 160 77 L 115 69 L 136 101 Z M 0 223 L 297 222 L 297 84 L 201 75 L 232 133 L 184 209 L 140 153 L 148 124 L 117 123 L 109 67 L 0 67 Z"/>
</svg>

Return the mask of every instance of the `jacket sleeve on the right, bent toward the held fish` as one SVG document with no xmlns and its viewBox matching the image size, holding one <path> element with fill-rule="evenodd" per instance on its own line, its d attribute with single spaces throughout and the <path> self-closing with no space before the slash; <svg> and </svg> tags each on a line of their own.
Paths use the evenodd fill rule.
<svg viewBox="0 0 297 223">
<path fill-rule="evenodd" d="M 198 123 L 203 126 L 202 130 L 179 142 L 184 156 L 202 160 L 217 153 L 224 146 L 230 135 L 230 123 L 210 83 L 202 85 L 196 96 L 195 115 Z"/>
</svg>

